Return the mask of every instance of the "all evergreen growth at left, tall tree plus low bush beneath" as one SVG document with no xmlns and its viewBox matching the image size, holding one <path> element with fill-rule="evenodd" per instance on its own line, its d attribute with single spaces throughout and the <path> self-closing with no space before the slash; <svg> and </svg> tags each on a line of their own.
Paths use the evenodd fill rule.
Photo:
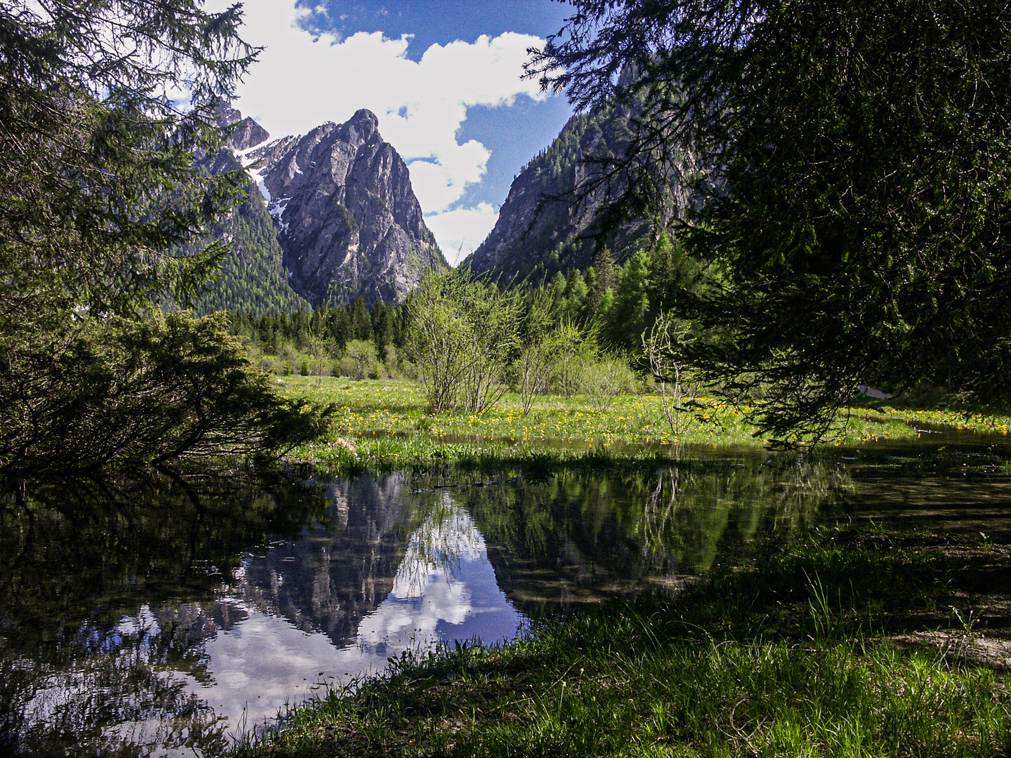
<svg viewBox="0 0 1011 758">
<path fill-rule="evenodd" d="M 221 319 L 151 311 L 189 305 L 226 251 L 205 235 L 245 174 L 194 156 L 220 149 L 217 106 L 255 58 L 240 20 L 200 0 L 0 4 L 0 475 L 321 431 L 326 412 L 276 397 Z"/>
</svg>

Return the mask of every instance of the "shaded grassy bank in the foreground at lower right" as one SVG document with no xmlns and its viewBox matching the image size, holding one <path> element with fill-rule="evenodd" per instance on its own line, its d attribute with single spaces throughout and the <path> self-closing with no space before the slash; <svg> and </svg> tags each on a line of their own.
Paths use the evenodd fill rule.
<svg viewBox="0 0 1011 758">
<path fill-rule="evenodd" d="M 672 599 L 395 661 L 235 755 L 1007 755 L 1011 659 L 974 660 L 1007 630 L 973 582 L 1006 587 L 1008 553 L 966 547 L 822 530 Z"/>
</svg>

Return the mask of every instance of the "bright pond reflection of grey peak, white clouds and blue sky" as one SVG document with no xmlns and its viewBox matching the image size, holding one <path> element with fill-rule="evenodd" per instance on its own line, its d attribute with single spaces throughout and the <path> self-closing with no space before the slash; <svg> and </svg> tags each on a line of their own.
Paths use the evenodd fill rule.
<svg viewBox="0 0 1011 758">
<path fill-rule="evenodd" d="M 402 520 L 381 517 L 402 504 L 390 493 L 402 494 L 403 485 L 400 475 L 334 485 L 335 510 L 349 516 L 333 523 L 334 542 L 313 529 L 302 541 L 247 556 L 215 602 L 237 623 L 203 646 L 215 714 L 232 725 L 262 724 L 326 686 L 381 671 L 405 651 L 516 635 L 522 618 L 498 590 L 465 510 L 445 502 L 413 527 L 417 509 L 400 511 Z M 402 542 L 388 539 L 396 534 Z"/>
</svg>

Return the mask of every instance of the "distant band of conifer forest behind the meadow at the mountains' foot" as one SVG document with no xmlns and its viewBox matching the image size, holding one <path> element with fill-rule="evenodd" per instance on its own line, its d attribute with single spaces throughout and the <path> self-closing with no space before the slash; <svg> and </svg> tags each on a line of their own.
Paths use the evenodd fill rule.
<svg viewBox="0 0 1011 758">
<path fill-rule="evenodd" d="M 466 269 L 452 274 L 516 300 L 514 358 L 532 340 L 530 323 L 537 304 L 546 313 L 544 325 L 567 329 L 583 356 L 616 357 L 640 371 L 645 370 L 644 335 L 661 312 L 679 313 L 684 293 L 703 289 L 708 275 L 665 232 L 624 265 L 603 249 L 585 271 L 575 269 L 567 276 L 559 271 L 537 286 L 499 287 L 480 277 L 470 279 Z M 252 360 L 276 374 L 413 378 L 418 346 L 412 320 L 423 317 L 417 301 L 417 295 L 402 305 L 377 300 L 369 309 L 359 297 L 347 306 L 265 312 L 249 308 L 234 310 L 229 317 L 233 334 L 247 344 Z M 501 378 L 517 381 L 515 371 Z"/>
</svg>

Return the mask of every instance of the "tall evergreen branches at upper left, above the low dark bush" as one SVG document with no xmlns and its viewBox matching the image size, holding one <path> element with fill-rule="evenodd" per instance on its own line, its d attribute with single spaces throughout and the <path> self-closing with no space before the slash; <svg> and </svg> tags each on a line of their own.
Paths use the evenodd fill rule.
<svg viewBox="0 0 1011 758">
<path fill-rule="evenodd" d="M 223 254 L 171 255 L 236 198 L 207 177 L 217 98 L 253 60 L 238 6 L 194 0 L 0 6 L 0 294 L 4 316 L 53 308 L 129 314 L 152 295 L 184 305 Z M 165 91 L 191 93 L 174 109 Z"/>
</svg>

